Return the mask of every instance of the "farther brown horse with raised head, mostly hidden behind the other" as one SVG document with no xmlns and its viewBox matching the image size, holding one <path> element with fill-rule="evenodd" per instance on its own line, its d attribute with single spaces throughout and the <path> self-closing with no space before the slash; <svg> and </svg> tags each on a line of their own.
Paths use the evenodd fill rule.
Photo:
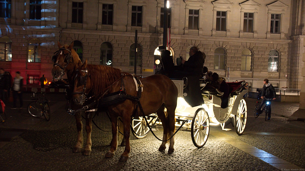
<svg viewBox="0 0 305 171">
<path fill-rule="evenodd" d="M 73 42 L 68 45 L 61 45 L 58 42 L 59 51 L 56 51 L 52 56 L 52 61 L 54 62 L 54 67 L 52 69 L 52 75 L 54 79 L 62 79 L 63 75 L 66 73 L 68 78 L 68 83 L 70 84 L 70 95 L 68 94 L 68 99 L 71 101 L 72 99 L 72 91 L 74 86 L 74 77 L 76 74 L 76 69 L 78 66 L 82 64 L 80 58 L 78 57 L 77 53 L 73 49 Z M 72 87 L 71 87 L 72 85 Z M 68 90 L 69 92 L 69 90 Z M 71 102 L 71 109 L 77 110 L 81 108 L 80 105 L 75 104 L 73 101 Z M 81 118 L 82 112 L 75 113 L 74 117 L 76 120 L 76 127 L 77 127 L 77 143 L 73 148 L 73 152 L 81 152 L 81 149 L 84 145 L 84 138 L 83 138 L 83 123 Z M 86 147 L 84 150 L 84 155 L 90 155 L 91 153 L 91 132 L 92 132 L 92 113 L 86 113 L 86 132 L 87 132 L 87 141 Z M 120 130 L 123 130 L 123 125 L 119 123 Z M 123 138 L 124 140 L 124 138 Z M 125 141 L 122 141 L 121 146 L 125 145 Z"/>
</svg>

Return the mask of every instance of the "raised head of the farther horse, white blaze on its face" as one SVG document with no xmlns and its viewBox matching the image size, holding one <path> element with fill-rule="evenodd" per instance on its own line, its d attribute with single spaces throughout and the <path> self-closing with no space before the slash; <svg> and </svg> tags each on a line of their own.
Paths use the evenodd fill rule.
<svg viewBox="0 0 305 171">
<path fill-rule="evenodd" d="M 52 62 L 54 62 L 52 75 L 54 79 L 62 79 L 65 72 L 71 71 L 80 65 L 81 60 L 73 49 L 74 42 L 69 46 L 61 45 L 59 42 L 57 44 L 59 50 L 52 56 Z"/>
</svg>

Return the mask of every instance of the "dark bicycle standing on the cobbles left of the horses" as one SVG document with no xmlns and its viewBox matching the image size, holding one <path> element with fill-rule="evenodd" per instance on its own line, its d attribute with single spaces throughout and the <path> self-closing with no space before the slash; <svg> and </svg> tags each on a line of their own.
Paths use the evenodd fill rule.
<svg viewBox="0 0 305 171">
<path fill-rule="evenodd" d="M 37 93 L 37 89 L 36 91 L 33 92 L 33 96 L 31 97 L 35 97 L 35 93 Z M 48 103 L 48 99 L 45 98 L 45 92 L 41 92 L 42 94 L 42 98 L 39 97 L 39 95 L 37 95 L 37 99 L 35 99 L 35 101 L 31 102 L 28 106 L 27 106 L 27 112 L 34 116 L 34 117 L 45 117 L 46 121 L 50 120 L 50 105 Z"/>
</svg>

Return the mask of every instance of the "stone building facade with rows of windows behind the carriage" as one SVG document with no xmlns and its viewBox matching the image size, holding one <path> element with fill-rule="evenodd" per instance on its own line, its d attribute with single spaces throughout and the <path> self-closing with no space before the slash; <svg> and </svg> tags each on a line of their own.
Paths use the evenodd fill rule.
<svg viewBox="0 0 305 171">
<path fill-rule="evenodd" d="M 82 60 L 88 59 L 89 64 L 110 64 L 134 73 L 135 30 L 140 54 L 137 74 L 154 74 L 156 48 L 163 41 L 162 0 L 4 2 L 11 3 L 11 13 L 1 14 L 0 44 L 4 44 L 2 37 L 9 38 L 5 46 L 11 44 L 11 61 L 0 61 L 0 68 L 13 75 L 20 71 L 28 80 L 29 75 L 45 74 L 51 80 L 57 41 L 68 45 L 74 41 Z M 39 6 L 40 19 L 37 12 L 33 16 L 33 8 Z M 252 87 L 261 87 L 262 80 L 268 78 L 279 88 L 301 88 L 304 1 L 170 0 L 169 7 L 174 61 L 180 56 L 187 59 L 188 49 L 197 46 L 206 54 L 205 66 L 229 81 L 246 80 Z M 33 60 L 32 46 L 38 51 Z M 101 56 L 111 60 L 105 64 Z"/>
</svg>

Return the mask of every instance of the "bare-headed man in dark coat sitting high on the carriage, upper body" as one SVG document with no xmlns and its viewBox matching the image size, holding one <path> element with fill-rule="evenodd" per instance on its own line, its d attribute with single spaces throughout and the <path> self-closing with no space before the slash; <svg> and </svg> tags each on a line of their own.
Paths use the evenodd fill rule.
<svg viewBox="0 0 305 171">
<path fill-rule="evenodd" d="M 190 57 L 187 61 L 184 59 L 181 60 L 181 64 L 183 64 L 183 71 L 198 75 L 203 73 L 203 65 L 206 54 L 199 51 L 198 47 L 196 46 L 191 47 L 188 54 Z"/>
</svg>

